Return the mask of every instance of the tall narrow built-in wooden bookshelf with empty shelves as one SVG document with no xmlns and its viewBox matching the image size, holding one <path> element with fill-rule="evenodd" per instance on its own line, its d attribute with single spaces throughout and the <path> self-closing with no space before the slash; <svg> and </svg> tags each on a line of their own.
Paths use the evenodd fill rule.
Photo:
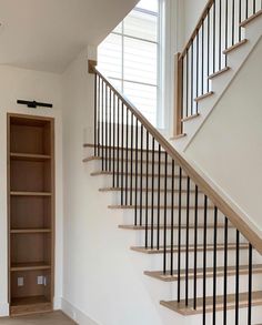
<svg viewBox="0 0 262 325">
<path fill-rule="evenodd" d="M 53 305 L 54 122 L 8 114 L 10 314 Z"/>
</svg>

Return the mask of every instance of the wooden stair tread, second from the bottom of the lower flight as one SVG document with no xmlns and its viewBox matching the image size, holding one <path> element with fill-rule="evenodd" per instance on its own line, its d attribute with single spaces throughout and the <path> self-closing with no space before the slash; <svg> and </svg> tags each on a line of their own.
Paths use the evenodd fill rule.
<svg viewBox="0 0 262 325">
<path fill-rule="evenodd" d="M 253 274 L 259 274 L 262 273 L 262 265 L 253 265 Z M 228 266 L 228 276 L 233 276 L 235 275 L 235 266 Z M 162 271 L 145 271 L 145 275 L 161 280 L 164 282 L 173 282 L 178 281 L 179 278 L 179 273 L 177 270 L 173 271 L 173 274 L 171 275 L 170 271 L 163 274 Z M 246 275 L 249 274 L 249 265 L 240 265 L 240 275 Z M 206 277 L 213 277 L 213 267 L 206 267 Z M 224 276 L 224 267 L 219 266 L 216 267 L 216 276 L 222 277 Z M 196 277 L 198 278 L 203 278 L 203 268 L 196 268 Z M 194 268 L 189 270 L 189 278 L 194 278 Z M 185 270 L 181 270 L 180 272 L 180 280 L 185 280 Z"/>
</svg>

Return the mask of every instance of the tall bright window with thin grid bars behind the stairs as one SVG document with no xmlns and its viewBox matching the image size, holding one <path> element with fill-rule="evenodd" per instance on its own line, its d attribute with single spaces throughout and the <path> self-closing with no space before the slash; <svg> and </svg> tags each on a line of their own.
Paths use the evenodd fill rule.
<svg viewBox="0 0 262 325">
<path fill-rule="evenodd" d="M 157 125 L 160 0 L 142 0 L 99 45 L 99 68 Z"/>
</svg>

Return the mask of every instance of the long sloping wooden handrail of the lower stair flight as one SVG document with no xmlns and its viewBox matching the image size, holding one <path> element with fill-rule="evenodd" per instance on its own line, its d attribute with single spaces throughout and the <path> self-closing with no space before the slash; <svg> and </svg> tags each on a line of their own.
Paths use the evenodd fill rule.
<svg viewBox="0 0 262 325">
<path fill-rule="evenodd" d="M 164 136 L 144 118 L 144 115 L 123 95 L 110 81 L 93 67 L 93 71 L 113 91 L 130 112 L 140 121 L 149 133 L 159 142 L 163 150 L 174 160 L 192 179 L 199 189 L 213 202 L 213 204 L 229 219 L 240 233 L 262 254 L 262 238 L 248 225 L 248 223 L 220 196 L 216 191 L 188 163 L 188 161 L 164 139 Z"/>
</svg>

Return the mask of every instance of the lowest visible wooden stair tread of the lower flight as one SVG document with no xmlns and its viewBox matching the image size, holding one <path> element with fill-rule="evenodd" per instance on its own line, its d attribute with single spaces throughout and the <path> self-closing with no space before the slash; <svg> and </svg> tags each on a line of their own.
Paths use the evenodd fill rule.
<svg viewBox="0 0 262 325">
<path fill-rule="evenodd" d="M 235 294 L 229 294 L 228 296 L 228 304 L 226 309 L 234 309 L 235 308 Z M 216 311 L 223 311 L 223 298 L 224 296 L 216 296 Z M 160 304 L 173 312 L 177 312 L 184 316 L 202 314 L 203 312 L 203 298 L 196 299 L 196 311 L 193 308 L 193 299 L 189 299 L 188 306 L 185 306 L 185 301 L 181 301 L 180 303 L 175 301 L 161 301 Z M 205 298 L 205 312 L 212 313 L 213 312 L 213 297 L 208 296 Z M 239 307 L 245 308 L 249 305 L 249 294 L 248 293 L 240 293 L 239 294 Z M 262 291 L 253 292 L 252 293 L 252 306 L 260 306 L 262 305 Z"/>
</svg>

